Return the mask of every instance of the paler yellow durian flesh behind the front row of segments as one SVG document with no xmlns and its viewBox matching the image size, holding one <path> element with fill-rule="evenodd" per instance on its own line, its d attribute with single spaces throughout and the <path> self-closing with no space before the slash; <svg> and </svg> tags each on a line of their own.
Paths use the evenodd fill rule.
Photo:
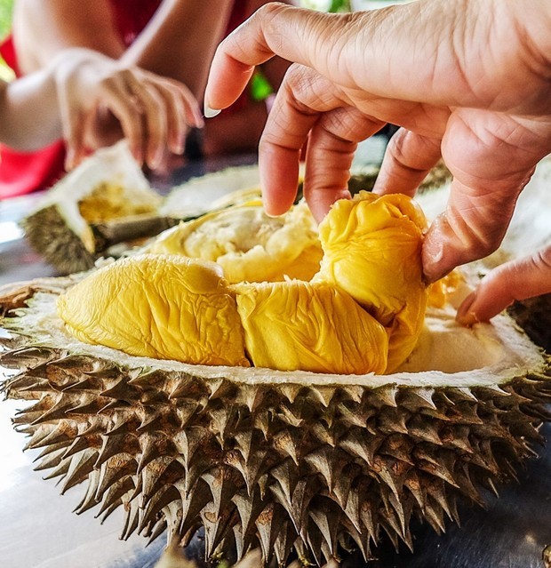
<svg viewBox="0 0 551 568">
<path fill-rule="evenodd" d="M 230 283 L 309 280 L 319 269 L 322 248 L 306 204 L 268 217 L 260 200 L 237 204 L 181 222 L 148 245 L 147 252 L 212 260 Z"/>
</svg>

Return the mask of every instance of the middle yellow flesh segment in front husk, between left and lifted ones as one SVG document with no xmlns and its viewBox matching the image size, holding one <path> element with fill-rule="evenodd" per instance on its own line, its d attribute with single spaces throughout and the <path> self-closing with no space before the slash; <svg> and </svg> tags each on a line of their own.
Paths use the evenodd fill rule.
<svg viewBox="0 0 551 568">
<path fill-rule="evenodd" d="M 344 374 L 385 371 L 387 332 L 346 292 L 299 280 L 232 288 L 255 366 Z"/>
</svg>

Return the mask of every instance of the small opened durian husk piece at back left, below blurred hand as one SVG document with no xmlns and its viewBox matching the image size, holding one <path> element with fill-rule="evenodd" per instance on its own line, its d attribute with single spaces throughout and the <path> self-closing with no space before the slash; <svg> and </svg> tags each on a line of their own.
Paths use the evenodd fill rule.
<svg viewBox="0 0 551 568">
<path fill-rule="evenodd" d="M 126 237 L 134 236 L 137 228 L 144 236 L 172 226 L 170 220 L 151 218 L 161 202 L 123 140 L 101 148 L 69 172 L 21 225 L 36 252 L 60 274 L 70 274 L 93 267 L 107 238 L 105 231 L 94 234 L 94 227 L 105 221 L 132 217 L 131 230 L 123 231 Z"/>
</svg>

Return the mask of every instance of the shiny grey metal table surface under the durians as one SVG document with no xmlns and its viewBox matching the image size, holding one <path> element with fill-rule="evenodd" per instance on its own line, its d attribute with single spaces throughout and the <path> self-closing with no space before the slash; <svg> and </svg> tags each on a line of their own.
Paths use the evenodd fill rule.
<svg viewBox="0 0 551 568">
<path fill-rule="evenodd" d="M 193 163 L 172 177 L 154 180 L 164 190 L 204 172 L 228 165 L 250 164 L 254 156 L 217 163 Z M 27 196 L 0 203 L 0 284 L 53 276 L 51 267 L 22 240 L 16 222 L 35 203 Z M 24 436 L 12 430 L 11 417 L 20 403 L 0 402 L 0 567 L 1 568 L 148 568 L 164 548 L 163 538 L 146 548 L 146 540 L 118 539 L 122 512 L 104 524 L 94 512 L 76 516 L 78 487 L 60 496 L 53 481 L 33 470 L 36 453 L 22 452 Z M 551 439 L 551 425 L 542 428 Z M 120 513 L 120 514 L 119 514 Z M 427 525 L 413 527 L 415 552 L 398 552 L 383 541 L 377 560 L 343 556 L 343 566 L 364 568 L 542 568 L 542 551 L 551 543 L 551 445 L 519 472 L 519 483 L 499 487 L 499 498 L 487 497 L 487 508 L 459 511 L 461 526 L 448 524 L 437 535 Z M 201 548 L 192 543 L 193 553 Z"/>
</svg>

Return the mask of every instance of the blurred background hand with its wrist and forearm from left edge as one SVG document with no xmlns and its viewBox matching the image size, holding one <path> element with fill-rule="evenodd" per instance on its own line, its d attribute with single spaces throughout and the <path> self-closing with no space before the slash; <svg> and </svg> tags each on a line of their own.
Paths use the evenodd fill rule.
<svg viewBox="0 0 551 568">
<path fill-rule="evenodd" d="M 203 124 L 184 84 L 91 50 L 71 48 L 43 69 L 0 83 L 0 140 L 12 148 L 33 150 L 63 136 L 68 167 L 73 167 L 90 149 L 86 132 L 100 104 L 117 117 L 140 163 L 155 164 L 167 145 L 181 151 L 186 125 Z"/>
</svg>

